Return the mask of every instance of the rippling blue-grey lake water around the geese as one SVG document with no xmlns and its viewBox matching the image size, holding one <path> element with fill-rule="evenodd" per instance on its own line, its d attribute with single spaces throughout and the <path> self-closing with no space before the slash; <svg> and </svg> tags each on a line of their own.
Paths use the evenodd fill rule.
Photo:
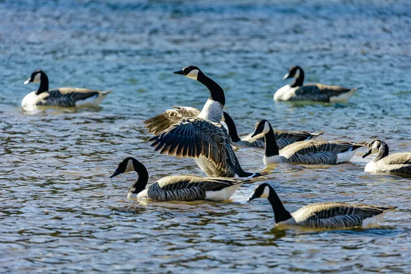
<svg viewBox="0 0 411 274">
<path fill-rule="evenodd" d="M 221 1 L 223 2 L 223 1 Z M 142 121 L 173 105 L 201 108 L 208 90 L 173 75 L 196 65 L 221 84 L 241 134 L 326 130 L 326 140 L 388 142 L 411 151 L 410 1 L 0 1 L 0 272 L 409 273 L 410 179 L 364 173 L 360 150 L 337 166 L 262 164 L 291 212 L 344 201 L 397 206 L 379 227 L 274 228 L 266 199 L 140 204 L 135 174 L 109 179 L 132 155 L 151 180 L 203 175 L 192 159 L 155 153 Z M 307 82 L 362 86 L 345 105 L 275 103 L 293 64 Z M 38 88 L 114 91 L 98 109 L 23 112 Z"/>
</svg>

